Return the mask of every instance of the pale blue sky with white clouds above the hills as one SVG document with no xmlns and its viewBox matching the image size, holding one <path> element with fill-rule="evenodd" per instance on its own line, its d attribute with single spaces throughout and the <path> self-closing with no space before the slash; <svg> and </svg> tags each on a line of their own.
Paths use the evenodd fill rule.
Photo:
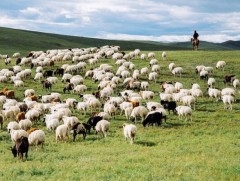
<svg viewBox="0 0 240 181">
<path fill-rule="evenodd" d="M 1 0 L 0 27 L 112 40 L 240 40 L 239 0 Z"/>
</svg>

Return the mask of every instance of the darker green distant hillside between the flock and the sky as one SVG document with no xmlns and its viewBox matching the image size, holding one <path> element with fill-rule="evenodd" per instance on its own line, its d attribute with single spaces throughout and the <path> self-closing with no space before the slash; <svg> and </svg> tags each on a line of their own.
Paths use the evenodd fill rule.
<svg viewBox="0 0 240 181">
<path fill-rule="evenodd" d="M 14 52 L 27 53 L 32 50 L 48 50 L 63 48 L 86 48 L 103 45 L 119 45 L 121 50 L 163 51 L 163 50 L 191 50 L 190 42 L 161 43 L 155 41 L 120 41 L 66 36 L 34 31 L 18 30 L 0 27 L 0 54 Z M 225 43 L 200 42 L 201 50 L 239 50 L 240 41 Z"/>
</svg>

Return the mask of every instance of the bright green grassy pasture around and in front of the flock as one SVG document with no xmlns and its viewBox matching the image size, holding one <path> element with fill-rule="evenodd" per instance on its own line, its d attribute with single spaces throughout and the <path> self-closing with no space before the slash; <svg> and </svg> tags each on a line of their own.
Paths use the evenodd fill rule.
<svg viewBox="0 0 240 181">
<path fill-rule="evenodd" d="M 148 53 L 148 52 L 141 52 Z M 224 109 L 221 100 L 209 99 L 207 82 L 201 80 L 195 73 L 197 65 L 214 67 L 210 77 L 216 79 L 216 88 L 233 87 L 224 84 L 224 76 L 235 74 L 240 78 L 240 51 L 167 51 L 167 60 L 162 60 L 161 51 L 155 51 L 160 65 L 157 82 L 150 82 L 149 90 L 154 91 L 153 101 L 160 101 L 159 92 L 161 81 L 178 81 L 184 88 L 190 89 L 192 83 L 198 83 L 203 91 L 203 97 L 198 98 L 196 110 L 193 110 L 192 121 L 179 120 L 177 115 L 167 114 L 167 123 L 160 127 L 143 127 L 137 121 L 137 136 L 133 145 L 125 142 L 123 137 L 123 123 L 129 122 L 124 115 L 117 112 L 116 118 L 111 118 L 110 130 L 106 139 L 97 138 L 93 130 L 82 139 L 78 135 L 76 142 L 72 135 L 67 142 L 56 143 L 55 134 L 46 129 L 43 119 L 34 122 L 33 127 L 45 131 L 46 143 L 43 149 L 30 148 L 27 161 L 20 161 L 12 156 L 10 147 L 13 145 L 7 132 L 7 121 L 0 130 L 0 180 L 240 180 L 240 95 L 239 89 L 235 96 L 232 110 Z M 225 70 L 216 70 L 218 60 L 226 61 Z M 0 60 L 0 67 L 10 68 L 15 65 L 14 59 L 10 65 Z M 135 69 L 149 67 L 150 59 L 130 60 Z M 169 63 L 174 62 L 183 67 L 184 73 L 180 78 L 175 77 L 168 69 Z M 56 62 L 54 67 L 44 67 L 44 70 L 56 69 L 71 61 Z M 97 65 L 88 65 L 86 70 L 107 63 L 117 66 L 112 58 L 101 58 Z M 29 68 L 29 65 L 23 66 Z M 149 67 L 150 68 L 150 67 Z M 34 67 L 32 77 L 35 75 Z M 85 71 L 80 73 L 84 77 Z M 145 76 L 141 81 L 148 81 Z M 15 97 L 22 101 L 27 88 L 33 88 L 36 95 L 48 94 L 43 90 L 39 81 L 33 78 L 24 80 L 24 87 L 15 90 Z M 85 93 L 97 91 L 99 82 L 90 78 L 84 79 L 88 90 Z M 63 94 L 65 83 L 59 81 L 53 85 L 52 92 L 62 94 L 62 99 L 69 97 L 80 101 L 77 94 L 66 92 Z M 4 87 L 14 89 L 13 84 L 0 83 Z M 115 89 L 114 96 L 124 90 L 121 83 Z M 146 103 L 143 101 L 142 103 Z M 91 116 L 88 111 L 72 110 L 81 122 L 86 122 Z"/>
</svg>

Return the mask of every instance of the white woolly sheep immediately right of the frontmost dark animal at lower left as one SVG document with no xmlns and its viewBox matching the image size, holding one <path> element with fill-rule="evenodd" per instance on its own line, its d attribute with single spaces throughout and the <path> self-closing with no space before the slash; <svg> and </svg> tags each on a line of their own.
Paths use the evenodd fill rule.
<svg viewBox="0 0 240 181">
<path fill-rule="evenodd" d="M 43 130 L 35 130 L 28 135 L 28 142 L 31 146 L 44 145 L 45 142 L 45 133 Z"/>
</svg>

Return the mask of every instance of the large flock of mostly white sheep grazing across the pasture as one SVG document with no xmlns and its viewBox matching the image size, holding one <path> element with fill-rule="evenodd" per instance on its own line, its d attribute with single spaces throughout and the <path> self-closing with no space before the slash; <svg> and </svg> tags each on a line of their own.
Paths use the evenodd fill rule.
<svg viewBox="0 0 240 181">
<path fill-rule="evenodd" d="M 79 127 L 79 118 L 73 116 L 73 110 L 76 110 L 84 115 L 94 112 L 94 116 L 102 117 L 94 129 L 96 133 L 101 132 L 104 137 L 107 136 L 110 122 L 116 113 L 120 112 L 121 115 L 124 113 L 126 121 L 133 120 L 135 123 L 123 125 L 125 139 L 130 139 L 133 144 L 139 117 L 144 121 L 148 115 L 159 112 L 166 121 L 167 110 L 173 110 L 180 120 L 183 118 L 192 120 L 196 100 L 203 97 L 203 92 L 197 83 L 194 83 L 191 89 L 184 89 L 181 82 L 163 81 L 161 82 L 162 90 L 159 93 L 160 100 L 153 101 L 155 93 L 150 90 L 150 84 L 158 81 L 160 60 L 156 59 L 154 52 L 144 54 L 139 49 L 125 53 L 120 51 L 119 46 L 103 46 L 46 52 L 32 51 L 26 57 L 15 53 L 12 57 L 1 55 L 0 58 L 5 60 L 8 66 L 13 65 L 14 60 L 18 60 L 17 65 L 0 70 L 0 84 L 9 83 L 15 88 L 25 88 L 25 81 L 34 79 L 39 82 L 46 80 L 53 86 L 59 81 L 73 85 L 73 88 L 68 90 L 69 97 L 64 101 L 62 94 L 58 92 L 50 92 L 39 97 L 36 96 L 36 90 L 25 88 L 24 99 L 17 101 L 15 97 L 8 96 L 6 92 L 9 90 L 1 91 L 0 123 L 2 125 L 3 122 L 7 122 L 7 130 L 13 142 L 24 136 L 28 137 L 30 145 L 43 145 L 44 131 L 34 128 L 34 122 L 40 119 L 44 119 L 49 131 L 55 132 L 56 141 L 66 140 L 71 132 L 76 131 L 72 130 L 76 124 L 78 124 L 76 129 L 86 132 L 85 125 L 81 124 Z M 149 66 L 136 69 L 131 61 L 136 58 L 149 61 Z M 114 66 L 117 66 L 116 72 L 113 71 L 113 65 L 101 63 L 101 59 L 113 59 Z M 166 52 L 162 53 L 162 59 L 167 60 Z M 46 74 L 45 76 L 44 71 L 49 67 L 54 69 L 54 64 L 61 64 L 64 74 L 61 76 Z M 24 68 L 30 65 L 35 69 Z M 225 66 L 225 61 L 216 62 L 217 69 L 223 71 Z M 168 68 L 173 76 L 181 78 L 184 73 L 184 67 L 176 66 L 174 62 L 170 62 Z M 216 89 L 213 69 L 210 66 L 198 65 L 196 73 L 200 79 L 206 80 L 209 97 L 221 99 L 224 109 L 231 110 L 239 80 L 233 77 L 230 81 L 232 87 Z M 88 86 L 84 84 L 85 79 L 98 83 L 98 90 L 94 93 L 86 93 Z M 119 87 L 122 87 L 122 90 L 119 95 L 116 95 Z M 79 94 L 81 101 L 71 97 L 71 93 Z M 165 108 L 165 104 L 161 104 L 160 101 L 167 103 L 168 107 Z"/>
</svg>

